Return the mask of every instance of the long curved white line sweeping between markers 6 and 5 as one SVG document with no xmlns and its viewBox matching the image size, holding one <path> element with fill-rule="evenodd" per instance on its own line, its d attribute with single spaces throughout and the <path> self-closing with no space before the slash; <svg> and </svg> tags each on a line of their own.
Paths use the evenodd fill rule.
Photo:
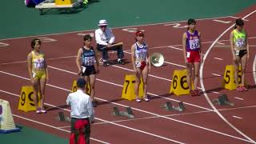
<svg viewBox="0 0 256 144">
<path fill-rule="evenodd" d="M 250 14 L 247 14 L 244 18 L 247 18 L 247 17 L 249 17 L 251 14 L 254 14 L 256 12 L 256 10 L 254 10 L 253 12 L 251 12 Z M 226 34 L 226 32 L 228 32 L 230 29 L 232 29 L 234 27 L 234 24 L 232 25 L 232 26 L 230 26 L 229 28 L 227 28 L 225 31 L 223 31 L 223 33 L 222 34 L 220 34 L 219 36 L 218 36 L 218 38 L 216 38 L 215 39 L 215 41 L 210 45 L 210 47 L 209 47 L 209 49 L 206 51 L 206 55 L 204 56 L 204 62 L 206 61 L 206 58 L 207 58 L 207 56 L 208 56 L 208 54 L 210 53 L 210 50 L 212 50 L 213 48 L 214 48 L 214 45 L 216 44 L 216 42 L 218 42 L 218 40 L 220 39 L 220 38 L 222 38 L 222 36 L 224 35 L 224 34 Z M 200 67 L 200 84 L 201 84 L 201 86 L 202 86 L 202 91 L 203 91 L 203 94 L 204 94 L 204 96 L 205 96 L 205 98 L 206 98 L 206 100 L 207 100 L 207 102 L 210 104 L 210 106 L 214 109 L 214 111 L 218 114 L 218 116 L 220 117 L 220 118 L 222 118 L 222 120 L 224 121 L 224 122 L 226 122 L 226 124 L 228 124 L 231 128 L 233 128 L 234 130 L 236 130 L 239 134 L 241 134 L 244 138 L 246 138 L 246 139 L 248 139 L 250 142 L 253 142 L 253 143 L 255 143 L 255 141 L 252 139 L 252 138 L 250 138 L 249 136 L 247 136 L 246 134 L 244 134 L 244 133 L 242 133 L 242 131 L 241 130 L 238 130 L 238 128 L 236 128 L 234 125 L 232 125 L 217 109 L 216 109 L 216 107 L 214 106 L 214 104 L 210 101 L 210 98 L 208 97 L 208 95 L 206 94 L 206 89 L 205 89 L 205 86 L 204 86 L 204 83 L 203 83 L 203 74 L 202 74 L 202 70 L 203 70 L 203 66 L 204 66 L 204 64 L 205 63 L 202 63 L 202 66 Z"/>
</svg>

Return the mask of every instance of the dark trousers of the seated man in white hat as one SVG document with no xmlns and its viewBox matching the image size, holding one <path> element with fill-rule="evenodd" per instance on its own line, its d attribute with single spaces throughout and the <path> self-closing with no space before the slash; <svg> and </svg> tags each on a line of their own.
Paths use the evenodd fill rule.
<svg viewBox="0 0 256 144">
<path fill-rule="evenodd" d="M 106 46 L 105 45 L 97 44 L 97 50 L 102 52 L 103 60 L 107 61 L 109 59 L 109 56 L 107 54 L 108 50 L 116 50 L 116 51 L 118 51 L 118 58 L 120 58 L 120 59 L 122 59 L 124 57 L 122 46 L 113 46 L 113 47 L 105 48 L 105 49 L 102 49 L 102 47 L 106 47 Z"/>
</svg>

